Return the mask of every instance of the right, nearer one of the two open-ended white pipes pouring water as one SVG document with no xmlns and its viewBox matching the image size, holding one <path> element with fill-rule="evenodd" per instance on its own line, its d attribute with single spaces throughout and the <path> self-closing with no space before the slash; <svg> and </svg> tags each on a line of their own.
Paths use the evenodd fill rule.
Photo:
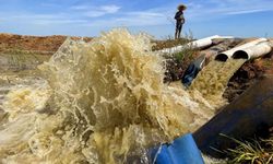
<svg viewBox="0 0 273 164">
<path fill-rule="evenodd" d="M 258 45 L 254 45 L 254 46 L 241 49 L 241 50 L 237 50 L 233 55 L 233 58 L 234 59 L 248 59 L 248 60 L 258 58 L 258 57 L 261 57 L 271 52 L 272 50 L 271 46 L 272 45 L 269 42 L 263 42 Z"/>
</svg>

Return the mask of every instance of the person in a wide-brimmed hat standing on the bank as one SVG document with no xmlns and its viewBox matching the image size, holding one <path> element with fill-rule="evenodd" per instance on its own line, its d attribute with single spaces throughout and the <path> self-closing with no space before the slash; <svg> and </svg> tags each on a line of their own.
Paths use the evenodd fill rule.
<svg viewBox="0 0 273 164">
<path fill-rule="evenodd" d="M 175 34 L 175 38 L 180 38 L 180 34 L 181 34 L 181 31 L 182 31 L 182 26 L 183 26 L 183 23 L 185 23 L 185 17 L 183 17 L 183 11 L 187 9 L 186 5 L 183 4 L 179 4 L 177 7 L 177 12 L 176 12 L 176 15 L 175 15 L 175 20 L 176 20 L 176 34 Z"/>
</svg>

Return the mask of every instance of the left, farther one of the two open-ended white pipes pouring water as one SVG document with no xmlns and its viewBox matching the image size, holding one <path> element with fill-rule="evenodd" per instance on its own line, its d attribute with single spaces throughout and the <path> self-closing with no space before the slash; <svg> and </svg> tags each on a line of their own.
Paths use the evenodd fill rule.
<svg viewBox="0 0 273 164">
<path fill-rule="evenodd" d="M 233 49 L 229 49 L 227 51 L 224 51 L 224 52 L 221 52 L 218 54 L 216 57 L 215 57 L 215 60 L 218 60 L 218 61 L 226 61 L 228 58 L 230 58 L 235 51 L 238 51 L 238 50 L 241 50 L 241 49 L 246 49 L 248 47 L 251 47 L 251 46 L 254 46 L 261 42 L 266 42 L 268 39 L 266 38 L 258 38 L 256 40 L 252 40 L 250 43 L 247 43 L 247 44 L 244 44 L 244 45 L 240 45 L 240 46 L 237 46 Z"/>
</svg>

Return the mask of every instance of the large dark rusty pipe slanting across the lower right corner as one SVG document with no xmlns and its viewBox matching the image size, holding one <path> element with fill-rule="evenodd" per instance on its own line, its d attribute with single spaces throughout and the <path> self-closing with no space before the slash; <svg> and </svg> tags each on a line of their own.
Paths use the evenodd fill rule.
<svg viewBox="0 0 273 164">
<path fill-rule="evenodd" d="M 268 75 L 227 105 L 193 133 L 198 148 L 213 157 L 226 157 L 234 140 L 266 137 L 273 127 L 273 77 Z"/>
</svg>

